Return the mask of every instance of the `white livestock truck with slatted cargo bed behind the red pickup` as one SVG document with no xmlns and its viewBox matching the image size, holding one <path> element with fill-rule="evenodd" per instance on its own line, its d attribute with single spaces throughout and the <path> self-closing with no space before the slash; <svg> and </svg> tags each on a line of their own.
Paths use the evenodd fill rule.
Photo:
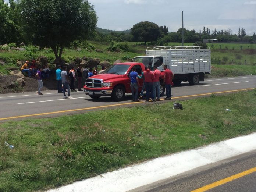
<svg viewBox="0 0 256 192">
<path fill-rule="evenodd" d="M 151 65 L 152 68 L 157 65 L 160 71 L 164 71 L 164 64 L 168 65 L 174 74 L 174 85 L 179 85 L 181 81 L 198 85 L 199 81 L 205 80 L 205 74 L 211 74 L 209 46 L 147 47 L 146 56 L 134 57 L 134 62 Z M 164 88 L 161 86 L 161 92 L 162 89 Z"/>
</svg>

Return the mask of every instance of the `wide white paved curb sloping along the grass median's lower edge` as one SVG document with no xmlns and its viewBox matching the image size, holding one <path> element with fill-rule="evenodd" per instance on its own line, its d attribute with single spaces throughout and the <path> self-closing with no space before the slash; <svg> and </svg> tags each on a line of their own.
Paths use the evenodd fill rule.
<svg viewBox="0 0 256 192">
<path fill-rule="evenodd" d="M 125 192 L 256 150 L 256 133 L 159 157 L 47 192 Z"/>
</svg>

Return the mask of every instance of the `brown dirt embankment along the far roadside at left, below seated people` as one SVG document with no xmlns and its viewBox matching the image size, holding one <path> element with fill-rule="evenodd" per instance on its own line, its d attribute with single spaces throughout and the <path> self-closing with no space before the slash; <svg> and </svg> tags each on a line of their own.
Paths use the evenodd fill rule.
<svg viewBox="0 0 256 192">
<path fill-rule="evenodd" d="M 16 75 L 4 75 L 0 74 L 0 94 L 3 93 L 14 93 L 14 92 L 31 92 L 38 90 L 38 81 L 35 77 L 23 77 L 25 85 L 21 86 L 16 83 L 16 86 L 10 86 L 10 84 L 15 83 L 19 76 Z M 43 89 L 42 90 L 56 90 L 57 82 L 55 77 L 50 76 L 49 79 L 43 79 Z"/>
</svg>

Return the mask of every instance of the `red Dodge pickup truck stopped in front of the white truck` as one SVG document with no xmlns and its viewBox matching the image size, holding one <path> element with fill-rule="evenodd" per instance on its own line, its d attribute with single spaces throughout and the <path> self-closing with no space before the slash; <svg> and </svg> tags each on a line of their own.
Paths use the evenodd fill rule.
<svg viewBox="0 0 256 192">
<path fill-rule="evenodd" d="M 111 65 L 103 74 L 94 75 L 88 78 L 83 87 L 86 95 L 93 99 L 101 96 L 111 96 L 116 101 L 124 100 L 125 93 L 131 93 L 129 74 L 132 67 L 136 68 L 139 75 L 144 71 L 143 63 L 117 63 Z M 139 92 L 143 86 L 143 79 L 139 79 Z M 164 93 L 164 86 L 161 83 L 161 95 Z"/>
</svg>

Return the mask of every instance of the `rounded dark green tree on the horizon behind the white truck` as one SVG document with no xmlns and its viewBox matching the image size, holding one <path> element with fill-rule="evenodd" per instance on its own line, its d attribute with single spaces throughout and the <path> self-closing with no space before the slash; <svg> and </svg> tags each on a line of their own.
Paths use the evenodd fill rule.
<svg viewBox="0 0 256 192">
<path fill-rule="evenodd" d="M 155 23 L 142 21 L 131 28 L 131 33 L 136 41 L 153 42 L 161 37 L 161 30 Z"/>
</svg>

